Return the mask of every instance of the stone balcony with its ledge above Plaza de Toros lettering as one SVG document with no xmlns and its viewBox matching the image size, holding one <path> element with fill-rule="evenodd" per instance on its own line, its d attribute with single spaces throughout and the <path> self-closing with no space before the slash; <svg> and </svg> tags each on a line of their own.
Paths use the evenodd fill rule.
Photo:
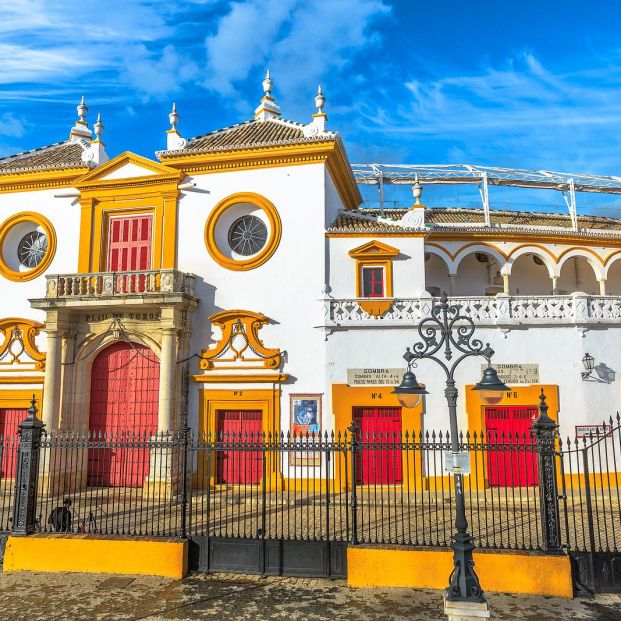
<svg viewBox="0 0 621 621">
<path fill-rule="evenodd" d="M 34 308 L 162 304 L 195 300 L 194 275 L 174 269 L 46 276 Z"/>
</svg>

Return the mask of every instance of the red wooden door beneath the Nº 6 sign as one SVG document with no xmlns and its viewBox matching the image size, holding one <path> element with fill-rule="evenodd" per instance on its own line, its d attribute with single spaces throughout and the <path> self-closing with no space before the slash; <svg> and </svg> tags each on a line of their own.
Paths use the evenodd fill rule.
<svg viewBox="0 0 621 621">
<path fill-rule="evenodd" d="M 487 480 L 493 487 L 537 485 L 537 456 L 530 435 L 536 406 L 485 408 Z"/>
</svg>

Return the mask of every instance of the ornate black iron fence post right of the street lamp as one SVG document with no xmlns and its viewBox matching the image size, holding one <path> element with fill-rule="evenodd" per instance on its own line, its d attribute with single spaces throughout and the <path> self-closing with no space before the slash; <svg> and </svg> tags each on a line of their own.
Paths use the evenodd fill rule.
<svg viewBox="0 0 621 621">
<path fill-rule="evenodd" d="M 558 553 L 561 546 L 561 521 L 556 480 L 556 430 L 558 425 L 548 416 L 546 396 L 541 389 L 539 416 L 533 422 L 539 473 L 539 499 L 543 546 L 546 552 Z"/>
</svg>

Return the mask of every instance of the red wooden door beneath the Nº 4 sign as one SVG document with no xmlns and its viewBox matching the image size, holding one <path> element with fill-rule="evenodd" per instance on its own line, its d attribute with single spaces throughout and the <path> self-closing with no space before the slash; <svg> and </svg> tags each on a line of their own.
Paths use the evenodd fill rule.
<svg viewBox="0 0 621 621">
<path fill-rule="evenodd" d="M 401 483 L 401 408 L 354 408 L 353 417 L 361 442 L 368 445 L 356 455 L 356 482 Z"/>
</svg>

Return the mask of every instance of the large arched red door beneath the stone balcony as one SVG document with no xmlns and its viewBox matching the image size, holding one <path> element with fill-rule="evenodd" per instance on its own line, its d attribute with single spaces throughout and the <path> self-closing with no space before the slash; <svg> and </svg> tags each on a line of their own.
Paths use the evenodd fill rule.
<svg viewBox="0 0 621 621">
<path fill-rule="evenodd" d="M 141 487 L 149 474 L 146 443 L 157 431 L 160 363 L 144 345 L 114 343 L 101 351 L 91 371 L 90 485 Z M 140 441 L 142 446 L 131 448 Z"/>
</svg>

